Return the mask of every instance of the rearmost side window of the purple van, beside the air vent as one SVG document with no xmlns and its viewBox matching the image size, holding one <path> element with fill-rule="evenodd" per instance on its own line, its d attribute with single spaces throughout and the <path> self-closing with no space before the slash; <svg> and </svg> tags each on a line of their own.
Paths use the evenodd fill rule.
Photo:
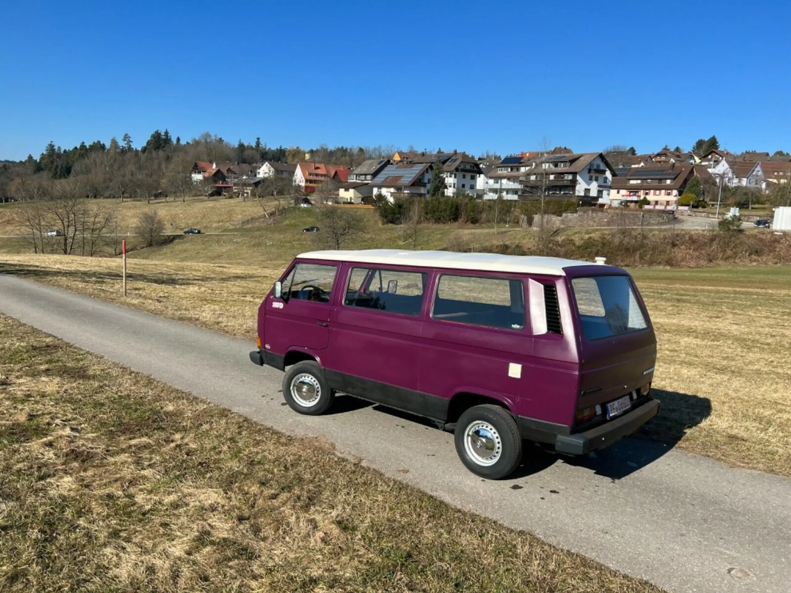
<svg viewBox="0 0 791 593">
<path fill-rule="evenodd" d="M 437 283 L 434 319 L 510 330 L 524 328 L 524 289 L 519 280 L 452 276 Z"/>
</svg>

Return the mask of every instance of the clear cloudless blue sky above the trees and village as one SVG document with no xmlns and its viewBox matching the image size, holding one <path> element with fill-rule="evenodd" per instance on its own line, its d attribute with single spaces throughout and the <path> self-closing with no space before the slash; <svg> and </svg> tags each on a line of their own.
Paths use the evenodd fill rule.
<svg viewBox="0 0 791 593">
<path fill-rule="evenodd" d="M 0 159 L 167 127 L 501 154 L 791 150 L 791 2 L 14 2 Z"/>
</svg>

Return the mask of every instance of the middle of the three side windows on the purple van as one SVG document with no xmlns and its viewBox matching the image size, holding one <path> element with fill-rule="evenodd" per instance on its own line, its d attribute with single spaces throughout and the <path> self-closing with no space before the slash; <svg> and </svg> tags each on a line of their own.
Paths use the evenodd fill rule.
<svg viewBox="0 0 791 593">
<path fill-rule="evenodd" d="M 377 268 L 353 268 L 343 304 L 403 315 L 420 315 L 426 274 Z"/>
</svg>

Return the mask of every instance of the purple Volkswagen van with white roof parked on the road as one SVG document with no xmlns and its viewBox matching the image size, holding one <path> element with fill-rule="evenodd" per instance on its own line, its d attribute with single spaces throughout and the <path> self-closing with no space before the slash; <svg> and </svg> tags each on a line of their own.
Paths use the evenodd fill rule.
<svg viewBox="0 0 791 593">
<path fill-rule="evenodd" d="M 335 391 L 455 432 L 473 473 L 504 478 L 523 441 L 570 455 L 649 421 L 657 339 L 626 270 L 447 251 L 313 251 L 263 300 L 255 364 L 324 413 Z"/>
</svg>

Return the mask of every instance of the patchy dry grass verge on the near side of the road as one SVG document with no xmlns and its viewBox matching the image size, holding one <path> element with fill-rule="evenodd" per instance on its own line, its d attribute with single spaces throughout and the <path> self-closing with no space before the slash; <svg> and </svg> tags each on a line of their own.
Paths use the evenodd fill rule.
<svg viewBox="0 0 791 593">
<path fill-rule="evenodd" d="M 658 591 L 0 316 L 2 591 Z"/>
</svg>

